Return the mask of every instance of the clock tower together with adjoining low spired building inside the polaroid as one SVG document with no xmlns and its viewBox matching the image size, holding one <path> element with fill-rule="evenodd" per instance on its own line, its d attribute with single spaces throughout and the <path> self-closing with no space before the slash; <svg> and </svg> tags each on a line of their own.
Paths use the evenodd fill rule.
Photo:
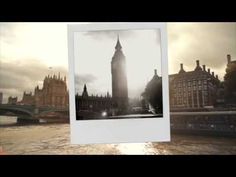
<svg viewBox="0 0 236 177">
<path fill-rule="evenodd" d="M 76 95 L 76 110 L 89 110 L 93 112 L 107 111 L 112 114 L 125 114 L 128 111 L 128 86 L 126 73 L 126 58 L 122 46 L 117 38 L 115 53 L 111 60 L 112 96 L 107 93 L 104 96 L 90 95 L 86 84 L 81 95 Z M 115 113 L 114 113 L 115 112 Z"/>
</svg>

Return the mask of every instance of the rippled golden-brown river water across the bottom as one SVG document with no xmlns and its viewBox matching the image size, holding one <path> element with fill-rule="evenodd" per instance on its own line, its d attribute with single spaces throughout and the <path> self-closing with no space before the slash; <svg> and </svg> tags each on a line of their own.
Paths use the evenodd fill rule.
<svg viewBox="0 0 236 177">
<path fill-rule="evenodd" d="M 0 118 L 0 154 L 236 154 L 236 138 L 172 135 L 166 143 L 71 145 L 69 124 L 15 124 Z"/>
</svg>

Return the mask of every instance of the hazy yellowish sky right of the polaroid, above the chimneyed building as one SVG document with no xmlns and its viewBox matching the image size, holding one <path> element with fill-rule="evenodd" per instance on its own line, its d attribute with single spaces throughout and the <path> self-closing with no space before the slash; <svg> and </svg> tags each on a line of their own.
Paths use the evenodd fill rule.
<svg viewBox="0 0 236 177">
<path fill-rule="evenodd" d="M 170 23 L 168 25 L 171 73 L 195 68 L 195 60 L 224 74 L 226 55 L 236 58 L 236 23 Z"/>
</svg>

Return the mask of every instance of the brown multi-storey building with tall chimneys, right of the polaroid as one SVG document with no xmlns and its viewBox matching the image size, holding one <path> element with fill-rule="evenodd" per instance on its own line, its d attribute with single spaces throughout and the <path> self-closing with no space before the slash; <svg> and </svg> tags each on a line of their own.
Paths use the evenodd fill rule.
<svg viewBox="0 0 236 177">
<path fill-rule="evenodd" d="M 220 80 L 205 65 L 201 67 L 199 60 L 193 71 L 186 72 L 180 64 L 179 73 L 170 75 L 169 82 L 171 108 L 204 108 L 216 104 Z"/>
</svg>

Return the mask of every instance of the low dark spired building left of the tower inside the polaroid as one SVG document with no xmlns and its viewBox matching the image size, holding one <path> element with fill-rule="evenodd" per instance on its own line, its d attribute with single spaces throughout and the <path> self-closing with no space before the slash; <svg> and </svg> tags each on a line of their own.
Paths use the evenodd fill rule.
<svg viewBox="0 0 236 177">
<path fill-rule="evenodd" d="M 103 111 L 111 113 L 113 105 L 112 98 L 108 92 L 105 96 L 89 96 L 86 84 L 84 85 L 83 93 L 81 95 L 78 93 L 76 94 L 75 102 L 77 114 L 79 114 L 79 111 L 89 111 L 91 112 L 90 115 L 92 115 L 92 113 L 101 113 Z"/>
</svg>

